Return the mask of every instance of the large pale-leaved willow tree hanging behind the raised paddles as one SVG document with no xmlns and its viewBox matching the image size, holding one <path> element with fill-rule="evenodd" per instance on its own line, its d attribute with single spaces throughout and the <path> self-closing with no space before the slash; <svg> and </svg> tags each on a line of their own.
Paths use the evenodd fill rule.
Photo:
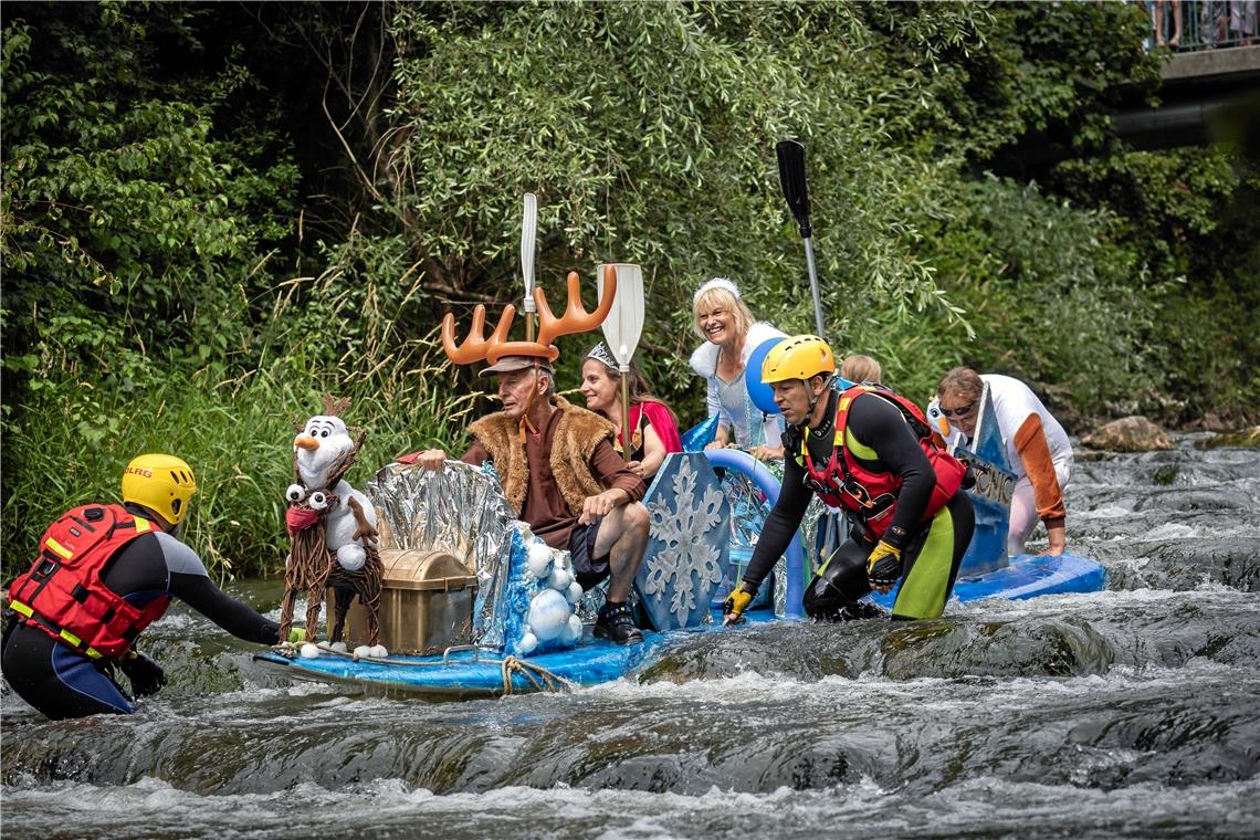
<svg viewBox="0 0 1260 840">
<path fill-rule="evenodd" d="M 646 267 L 645 358 L 670 393 L 694 390 L 690 292 L 711 276 L 809 329 L 774 156 L 785 136 L 809 147 L 830 329 L 872 307 L 956 314 L 915 254 L 922 183 L 944 164 L 881 144 L 853 69 L 871 38 L 856 8 L 403 5 L 392 34 L 389 140 L 363 169 L 381 174 L 378 224 L 465 322 L 470 302 L 519 297 L 519 196 L 534 191 L 547 291 L 604 261 Z"/>
</svg>

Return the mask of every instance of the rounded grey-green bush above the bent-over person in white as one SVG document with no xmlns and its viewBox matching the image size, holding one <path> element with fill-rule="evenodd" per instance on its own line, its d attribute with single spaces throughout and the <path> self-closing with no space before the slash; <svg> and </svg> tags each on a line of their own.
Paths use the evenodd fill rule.
<svg viewBox="0 0 1260 840">
<path fill-rule="evenodd" d="M 954 198 L 929 241 L 942 285 L 973 302 L 976 336 L 946 345 L 939 370 L 1011 373 L 1075 413 L 1153 407 L 1162 373 L 1148 348 L 1167 290 L 1116 243 L 1119 219 L 992 176 Z"/>
</svg>

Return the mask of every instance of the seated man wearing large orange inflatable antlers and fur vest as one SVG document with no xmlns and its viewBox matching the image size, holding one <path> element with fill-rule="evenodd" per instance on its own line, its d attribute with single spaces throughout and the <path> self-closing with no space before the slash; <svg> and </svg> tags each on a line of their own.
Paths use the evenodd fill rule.
<svg viewBox="0 0 1260 840">
<path fill-rule="evenodd" d="M 493 461 L 504 494 L 517 515 L 537 536 L 571 553 L 583 589 L 609 579 L 607 602 L 595 635 L 619 645 L 643 641 L 626 599 L 648 545 L 646 486 L 626 468 L 612 446 L 616 429 L 605 418 L 572 406 L 554 393 L 552 363 L 559 350 L 551 341 L 600 325 L 616 292 L 616 275 L 605 275 L 606 293 L 598 309 L 582 310 L 576 273 L 568 277 L 568 307 L 554 317 L 541 288 L 534 290 L 539 330 L 537 341 L 505 341 L 515 310 L 509 305 L 489 339 L 483 338 L 485 309 L 472 317 L 472 332 L 454 341 L 454 316 L 442 322 L 442 346 L 456 364 L 486 359 L 481 378 L 498 377 L 503 411 L 472 423 L 474 441 L 460 458 Z M 442 450 L 425 450 L 398 458 L 441 470 Z"/>
</svg>

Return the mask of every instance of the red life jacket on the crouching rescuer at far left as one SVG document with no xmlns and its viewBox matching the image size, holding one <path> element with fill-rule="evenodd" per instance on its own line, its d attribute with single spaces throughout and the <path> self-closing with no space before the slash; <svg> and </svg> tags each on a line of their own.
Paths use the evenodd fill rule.
<svg viewBox="0 0 1260 840">
<path fill-rule="evenodd" d="M 30 570 L 9 586 L 9 607 L 57 641 L 92 659 L 118 659 L 145 627 L 161 618 L 170 596 L 142 610 L 101 581 L 105 564 L 154 530 L 121 505 L 72 508 L 48 526 Z"/>
</svg>

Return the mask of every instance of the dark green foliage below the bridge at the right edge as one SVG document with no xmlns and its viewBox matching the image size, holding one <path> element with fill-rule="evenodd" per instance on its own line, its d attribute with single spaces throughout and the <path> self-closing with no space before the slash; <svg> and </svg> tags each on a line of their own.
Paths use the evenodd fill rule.
<svg viewBox="0 0 1260 840">
<path fill-rule="evenodd" d="M 1255 118 L 1250 130 L 1255 132 Z M 1260 400 L 1260 157 L 1236 142 L 1065 161 L 1048 184 L 1105 208 L 1140 253 L 1143 285 L 1167 286 L 1142 348 L 1167 373 L 1155 413 L 1242 423 Z"/>
</svg>

